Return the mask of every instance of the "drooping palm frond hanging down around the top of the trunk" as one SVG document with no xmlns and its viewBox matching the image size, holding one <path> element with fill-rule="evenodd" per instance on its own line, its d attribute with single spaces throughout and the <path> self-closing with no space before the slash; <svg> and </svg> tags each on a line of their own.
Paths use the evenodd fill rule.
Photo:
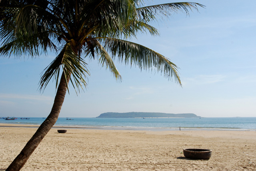
<svg viewBox="0 0 256 171">
<path fill-rule="evenodd" d="M 62 69 L 65 74 L 65 78 L 70 77 L 71 75 L 70 82 L 72 83 L 72 86 L 75 90 L 78 89 L 80 92 L 80 88 L 83 89 L 83 86 L 87 86 L 84 77 L 86 78 L 86 75 L 90 75 L 86 65 L 85 61 L 81 59 L 74 52 L 70 44 L 67 43 L 54 61 L 44 69 L 44 74 L 42 75 L 39 83 L 40 90 L 45 89 L 52 77 L 56 80 L 57 88 L 58 80 L 60 78 L 60 70 Z"/>
</svg>

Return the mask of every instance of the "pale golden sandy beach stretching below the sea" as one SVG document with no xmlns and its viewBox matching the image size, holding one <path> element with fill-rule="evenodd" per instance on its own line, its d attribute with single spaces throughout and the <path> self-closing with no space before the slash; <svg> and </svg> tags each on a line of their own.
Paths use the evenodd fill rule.
<svg viewBox="0 0 256 171">
<path fill-rule="evenodd" d="M 36 131 L 4 125 L 0 170 Z M 59 134 L 52 128 L 22 171 L 256 171 L 255 131 L 67 130 Z M 212 149 L 212 157 L 187 159 L 186 148 Z"/>
</svg>

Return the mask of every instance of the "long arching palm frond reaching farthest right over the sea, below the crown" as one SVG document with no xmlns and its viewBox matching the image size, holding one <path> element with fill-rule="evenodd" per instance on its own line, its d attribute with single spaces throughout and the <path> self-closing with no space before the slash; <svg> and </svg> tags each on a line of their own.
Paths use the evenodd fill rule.
<svg viewBox="0 0 256 171">
<path fill-rule="evenodd" d="M 126 65 L 138 66 L 140 69 L 152 69 L 153 67 L 164 77 L 174 77 L 175 82 L 181 85 L 178 75 L 178 67 L 168 58 L 147 47 L 121 39 L 105 38 L 105 47 L 113 55 L 118 57 L 120 62 Z"/>
</svg>

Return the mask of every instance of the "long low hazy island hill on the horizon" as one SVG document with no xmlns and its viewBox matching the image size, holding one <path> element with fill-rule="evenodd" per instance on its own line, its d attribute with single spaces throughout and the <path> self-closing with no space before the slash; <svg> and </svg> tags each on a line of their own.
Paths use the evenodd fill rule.
<svg viewBox="0 0 256 171">
<path fill-rule="evenodd" d="M 100 114 L 96 118 L 200 118 L 196 114 L 167 114 L 157 112 L 127 112 L 127 113 L 116 113 L 107 112 Z"/>
</svg>

